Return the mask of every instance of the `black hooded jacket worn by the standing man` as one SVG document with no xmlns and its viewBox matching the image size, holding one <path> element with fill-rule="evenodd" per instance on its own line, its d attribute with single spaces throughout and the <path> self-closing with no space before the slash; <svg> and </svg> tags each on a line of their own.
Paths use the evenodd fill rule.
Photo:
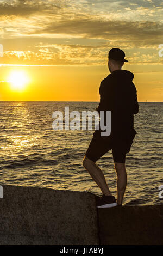
<svg viewBox="0 0 163 256">
<path fill-rule="evenodd" d="M 120 138 L 137 133 L 134 114 L 139 112 L 139 105 L 133 78 L 128 70 L 115 70 L 100 84 L 100 103 L 96 110 L 111 111 L 112 136 Z"/>
</svg>

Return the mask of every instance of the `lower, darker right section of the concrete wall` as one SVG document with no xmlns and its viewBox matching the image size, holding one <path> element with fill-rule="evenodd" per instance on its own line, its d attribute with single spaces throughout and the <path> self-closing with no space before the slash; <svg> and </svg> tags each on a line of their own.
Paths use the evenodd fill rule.
<svg viewBox="0 0 163 256">
<path fill-rule="evenodd" d="M 163 205 L 98 209 L 101 245 L 162 245 Z"/>
</svg>

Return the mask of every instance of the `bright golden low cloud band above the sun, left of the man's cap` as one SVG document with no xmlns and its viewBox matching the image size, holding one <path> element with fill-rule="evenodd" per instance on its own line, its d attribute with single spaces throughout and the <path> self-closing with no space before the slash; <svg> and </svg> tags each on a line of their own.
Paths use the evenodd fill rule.
<svg viewBox="0 0 163 256">
<path fill-rule="evenodd" d="M 98 65 L 104 64 L 105 54 L 95 47 L 55 45 L 38 51 L 7 51 L 1 58 L 3 64 L 37 65 Z"/>
</svg>

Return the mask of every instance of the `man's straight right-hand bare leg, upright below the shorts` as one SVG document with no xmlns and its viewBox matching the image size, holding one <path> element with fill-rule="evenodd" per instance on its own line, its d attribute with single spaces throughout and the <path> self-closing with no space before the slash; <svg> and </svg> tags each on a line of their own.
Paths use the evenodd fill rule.
<svg viewBox="0 0 163 256">
<path fill-rule="evenodd" d="M 114 163 L 117 173 L 117 204 L 122 204 L 124 192 L 127 185 L 127 174 L 125 163 Z"/>
</svg>

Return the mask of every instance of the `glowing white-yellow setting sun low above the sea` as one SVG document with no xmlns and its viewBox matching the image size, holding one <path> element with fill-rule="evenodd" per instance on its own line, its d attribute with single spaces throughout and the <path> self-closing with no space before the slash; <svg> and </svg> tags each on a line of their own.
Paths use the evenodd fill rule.
<svg viewBox="0 0 163 256">
<path fill-rule="evenodd" d="M 13 71 L 9 75 L 9 83 L 11 83 L 14 90 L 23 90 L 28 81 L 27 74 L 23 71 Z"/>
</svg>

